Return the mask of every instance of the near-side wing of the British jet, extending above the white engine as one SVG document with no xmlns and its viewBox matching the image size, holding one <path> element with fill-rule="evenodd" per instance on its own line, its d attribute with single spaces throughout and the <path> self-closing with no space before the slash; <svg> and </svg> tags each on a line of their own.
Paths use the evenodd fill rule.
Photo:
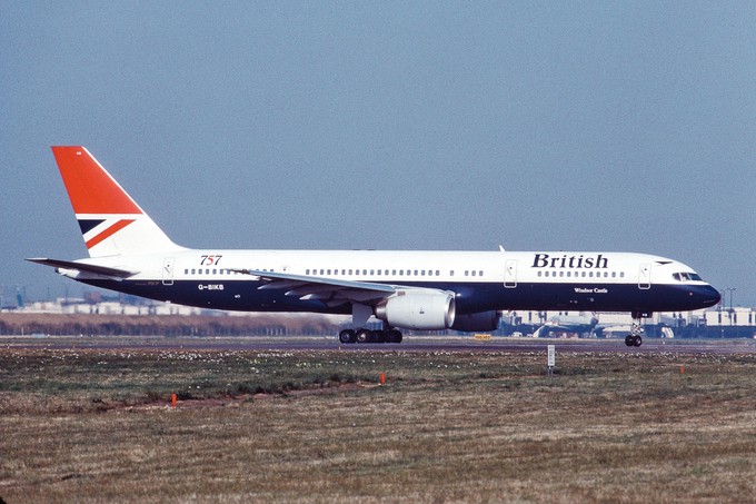
<svg viewBox="0 0 756 504">
<path fill-rule="evenodd" d="M 287 296 L 301 300 L 317 299 L 328 306 L 345 303 L 374 304 L 397 291 L 397 286 L 371 281 L 338 280 L 335 278 L 291 275 L 288 273 L 261 271 L 258 269 L 231 269 L 232 271 L 259 277 L 265 285 L 258 289 L 287 289 Z"/>
</svg>

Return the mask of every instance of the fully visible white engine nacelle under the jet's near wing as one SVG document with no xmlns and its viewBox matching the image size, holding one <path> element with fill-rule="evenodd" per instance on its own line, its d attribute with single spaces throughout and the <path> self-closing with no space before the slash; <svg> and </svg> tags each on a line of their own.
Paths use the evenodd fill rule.
<svg viewBox="0 0 756 504">
<path fill-rule="evenodd" d="M 391 327 L 440 330 L 455 319 L 454 294 L 435 289 L 399 290 L 376 307 L 376 317 Z"/>
</svg>

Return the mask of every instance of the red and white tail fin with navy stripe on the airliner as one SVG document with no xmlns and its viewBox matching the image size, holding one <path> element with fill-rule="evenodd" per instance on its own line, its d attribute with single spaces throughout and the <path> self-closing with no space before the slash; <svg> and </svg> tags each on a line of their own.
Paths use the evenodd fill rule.
<svg viewBox="0 0 756 504">
<path fill-rule="evenodd" d="M 89 151 L 52 147 L 90 257 L 179 250 Z"/>
</svg>

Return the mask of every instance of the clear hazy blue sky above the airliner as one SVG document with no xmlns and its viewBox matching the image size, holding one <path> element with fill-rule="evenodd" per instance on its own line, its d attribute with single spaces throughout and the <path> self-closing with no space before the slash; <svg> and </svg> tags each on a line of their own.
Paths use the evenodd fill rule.
<svg viewBox="0 0 756 504">
<path fill-rule="evenodd" d="M 86 249 L 51 145 L 186 246 L 626 250 L 756 304 L 754 2 L 0 0 L 0 285 Z"/>
</svg>

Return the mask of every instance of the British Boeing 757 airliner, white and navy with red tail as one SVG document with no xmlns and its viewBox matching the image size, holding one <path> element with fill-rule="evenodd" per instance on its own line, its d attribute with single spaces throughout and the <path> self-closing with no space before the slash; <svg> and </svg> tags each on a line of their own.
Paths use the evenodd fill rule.
<svg viewBox="0 0 756 504">
<path fill-rule="evenodd" d="M 629 312 L 640 320 L 719 303 L 690 267 L 599 251 L 231 250 L 175 244 L 81 146 L 52 154 L 89 257 L 27 260 L 96 287 L 160 302 L 247 312 L 351 315 L 349 343 L 400 343 L 399 329 L 495 330 L 504 310 Z M 366 328 L 370 317 L 382 329 Z"/>
</svg>

